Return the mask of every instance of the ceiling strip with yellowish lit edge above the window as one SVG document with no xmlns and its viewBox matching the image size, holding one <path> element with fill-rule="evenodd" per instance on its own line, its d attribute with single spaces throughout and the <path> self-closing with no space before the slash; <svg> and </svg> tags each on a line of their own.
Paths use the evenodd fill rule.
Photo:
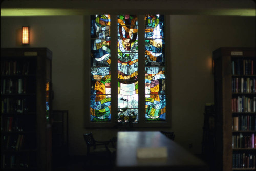
<svg viewBox="0 0 256 171">
<path fill-rule="evenodd" d="M 4 0 L 1 16 L 161 13 L 256 16 L 253 0 Z"/>
</svg>

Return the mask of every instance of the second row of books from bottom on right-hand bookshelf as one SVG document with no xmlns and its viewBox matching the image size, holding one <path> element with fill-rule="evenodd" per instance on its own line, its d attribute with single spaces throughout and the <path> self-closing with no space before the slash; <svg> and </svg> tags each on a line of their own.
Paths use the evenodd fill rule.
<svg viewBox="0 0 256 171">
<path fill-rule="evenodd" d="M 232 136 L 232 147 L 233 148 L 256 148 L 256 136 L 254 133 L 251 135 L 239 135 Z"/>
</svg>

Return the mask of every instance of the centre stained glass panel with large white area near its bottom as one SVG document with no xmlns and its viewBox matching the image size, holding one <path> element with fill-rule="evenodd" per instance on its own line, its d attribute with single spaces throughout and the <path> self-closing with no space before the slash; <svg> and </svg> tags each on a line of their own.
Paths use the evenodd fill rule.
<svg viewBox="0 0 256 171">
<path fill-rule="evenodd" d="M 118 15 L 117 27 L 118 121 L 137 122 L 139 101 L 137 15 Z"/>
</svg>

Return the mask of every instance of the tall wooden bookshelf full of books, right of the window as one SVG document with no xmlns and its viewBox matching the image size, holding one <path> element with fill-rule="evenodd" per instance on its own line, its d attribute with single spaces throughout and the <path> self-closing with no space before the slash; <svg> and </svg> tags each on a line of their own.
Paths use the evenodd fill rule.
<svg viewBox="0 0 256 171">
<path fill-rule="evenodd" d="M 214 56 L 216 170 L 256 170 L 255 48 L 219 48 Z"/>
</svg>

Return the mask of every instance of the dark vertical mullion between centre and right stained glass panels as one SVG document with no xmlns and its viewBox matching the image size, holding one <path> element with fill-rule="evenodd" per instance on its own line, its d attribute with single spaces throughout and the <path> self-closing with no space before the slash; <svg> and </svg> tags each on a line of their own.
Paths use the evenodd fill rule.
<svg viewBox="0 0 256 171">
<path fill-rule="evenodd" d="M 138 15 L 138 72 L 139 72 L 139 123 L 145 124 L 145 24 L 144 15 Z"/>
</svg>

